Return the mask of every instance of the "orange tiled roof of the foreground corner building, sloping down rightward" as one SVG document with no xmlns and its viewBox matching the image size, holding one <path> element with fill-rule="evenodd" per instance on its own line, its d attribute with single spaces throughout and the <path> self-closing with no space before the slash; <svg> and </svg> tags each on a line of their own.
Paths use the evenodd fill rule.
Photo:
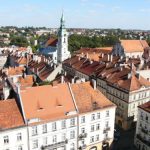
<svg viewBox="0 0 150 150">
<path fill-rule="evenodd" d="M 99 90 L 94 90 L 90 82 L 71 85 L 79 113 L 115 106 Z"/>
</svg>

